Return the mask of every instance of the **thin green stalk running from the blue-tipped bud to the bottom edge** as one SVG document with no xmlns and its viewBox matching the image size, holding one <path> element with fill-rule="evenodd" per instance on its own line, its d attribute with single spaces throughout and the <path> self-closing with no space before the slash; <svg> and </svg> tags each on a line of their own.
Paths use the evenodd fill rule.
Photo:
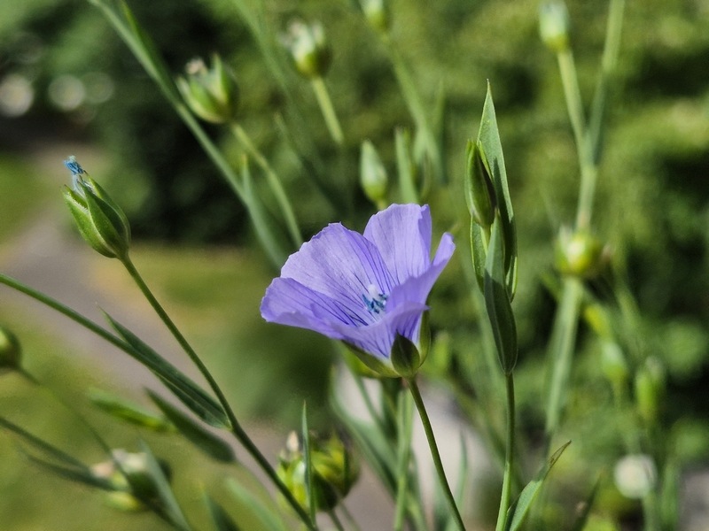
<svg viewBox="0 0 709 531">
<path fill-rule="evenodd" d="M 150 290 L 150 288 L 148 288 L 147 284 L 145 284 L 143 277 L 141 277 L 140 273 L 138 273 L 136 266 L 133 265 L 133 262 L 128 256 L 122 258 L 121 263 L 123 264 L 123 266 L 126 267 L 126 270 L 130 274 L 131 278 L 133 279 L 133 281 L 136 282 L 137 287 L 141 290 L 148 303 L 151 304 L 152 309 L 158 314 L 160 320 L 165 323 L 165 326 L 168 327 L 168 330 L 175 337 L 175 340 L 180 344 L 184 352 L 190 357 L 192 363 L 194 363 L 194 365 L 199 369 L 199 372 L 202 373 L 202 375 L 205 377 L 205 380 L 209 384 L 209 387 L 214 391 L 214 395 L 217 397 L 217 400 L 219 400 L 219 403 L 222 404 L 222 408 L 224 409 L 224 412 L 226 412 L 227 417 L 229 418 L 231 433 L 237 438 L 238 442 L 241 443 L 241 445 L 245 448 L 245 450 L 249 453 L 253 460 L 256 461 L 256 463 L 261 467 L 261 470 L 266 473 L 266 475 L 269 477 L 269 480 L 272 481 L 274 485 L 276 485 L 279 492 L 285 497 L 288 503 L 291 504 L 292 508 L 298 514 L 303 524 L 305 524 L 305 526 L 308 527 L 308 529 L 310 529 L 311 531 L 316 531 L 317 527 L 314 521 L 310 519 L 308 513 L 303 510 L 298 501 L 292 496 L 291 491 L 288 490 L 288 488 L 284 485 L 283 481 L 280 480 L 276 473 L 276 470 L 274 470 L 273 466 L 270 465 L 269 460 L 263 456 L 261 450 L 258 449 L 258 447 L 251 440 L 251 437 L 249 437 L 246 434 L 244 428 L 241 427 L 236 417 L 236 414 L 231 409 L 231 405 L 229 404 L 229 401 L 227 400 L 226 396 L 224 396 L 222 389 L 219 387 L 219 384 L 214 380 L 212 373 L 209 372 L 209 369 L 206 368 L 205 364 L 199 358 L 197 352 L 192 349 L 190 343 L 187 342 L 180 330 L 175 326 L 175 323 L 172 321 L 172 319 L 170 319 L 168 313 L 165 312 L 162 305 L 160 305 L 158 299 L 152 295 L 152 291 Z"/>
</svg>

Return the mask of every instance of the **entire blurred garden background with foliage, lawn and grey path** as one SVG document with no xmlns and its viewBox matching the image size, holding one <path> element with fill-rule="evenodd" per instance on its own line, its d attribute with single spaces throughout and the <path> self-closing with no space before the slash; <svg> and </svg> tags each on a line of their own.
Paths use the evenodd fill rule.
<svg viewBox="0 0 709 531">
<path fill-rule="evenodd" d="M 239 123 L 282 176 L 308 235 L 343 218 L 349 227 L 361 228 L 373 212 L 362 192 L 354 196 L 355 208 L 342 214 L 303 180 L 277 127 L 288 100 L 234 4 L 130 3 L 175 76 L 192 58 L 214 52 L 234 70 Z M 316 142 L 331 179 L 357 181 L 364 139 L 374 142 L 393 169 L 393 130 L 413 124 L 381 43 L 356 3 L 265 4 L 266 22 L 277 31 L 296 16 L 317 19 L 331 42 L 326 83 L 345 131 L 343 150 L 332 145 L 308 83 L 295 73 L 287 79 L 304 113 L 303 131 Z M 588 104 L 607 3 L 567 4 L 580 89 Z M 439 232 L 452 230 L 461 242 L 467 228 L 455 224 L 465 208 L 456 186 L 464 171 L 465 142 L 479 127 L 486 82 L 493 87 L 518 219 L 518 399 L 530 439 L 543 426 L 540 367 L 555 305 L 549 295 L 551 250 L 559 227 L 573 220 L 579 173 L 557 63 L 538 35 L 538 7 L 536 0 L 391 3 L 393 39 L 427 104 L 433 106 L 441 91 L 444 95 L 450 185 L 447 195 L 431 197 L 432 215 Z M 596 232 L 610 244 L 640 309 L 638 349 L 666 367 L 662 415 L 668 441 L 678 449 L 682 471 L 701 470 L 709 461 L 709 1 L 628 3 L 611 94 Z M 228 132 L 207 130 L 237 161 L 238 144 Z M 160 336 L 157 320 L 146 324 L 152 316 L 125 274 L 112 261 L 92 256 L 74 235 L 60 196 L 68 180 L 61 162 L 72 154 L 127 212 L 136 264 L 214 366 L 238 413 L 254 425 L 275 427 L 284 438 L 297 426 L 307 399 L 315 422 L 327 425 L 328 343 L 261 321 L 259 302 L 277 272 L 254 244 L 243 206 L 101 12 L 79 0 L 2 2 L 0 269 L 64 296 L 92 318 L 100 319 L 97 304 L 122 312 L 146 333 L 158 335 L 156 342 L 176 350 Z M 464 245 L 459 249 L 464 252 Z M 452 350 L 474 350 L 479 338 L 471 320 L 477 316 L 455 293 L 459 270 L 449 267 L 436 288 L 437 300 L 445 304 L 432 317 L 435 327 L 455 338 Z M 91 412 L 84 392 L 100 387 L 139 397 L 143 385 L 152 385 L 136 376 L 141 367 L 100 342 L 77 341 L 80 330 L 8 289 L 0 290 L 0 324 L 19 336 L 27 366 L 85 410 L 116 447 L 135 445 L 136 433 Z M 579 440 L 577 455 L 585 458 L 620 451 L 613 434 L 622 420 L 610 418 L 603 407 L 611 396 L 597 356 L 597 342 L 582 329 L 569 418 L 578 422 L 570 432 Z M 435 386 L 450 367 L 433 359 L 429 363 Z M 35 427 L 89 461 L 100 456 L 71 413 L 17 375 L 0 376 L 0 414 Z M 167 436 L 151 442 L 168 455 L 189 451 Z M 197 455 L 181 473 L 185 484 L 190 470 L 198 468 L 200 474 L 214 469 L 214 478 L 222 474 Z M 573 483 L 573 477 L 572 470 L 567 481 Z M 33 468 L 2 432 L 0 492 L 3 529 L 158 525 L 147 516 L 114 512 L 96 493 Z M 634 504 L 622 496 L 607 506 L 632 520 Z M 87 521 L 92 523 L 80 523 Z"/>
</svg>

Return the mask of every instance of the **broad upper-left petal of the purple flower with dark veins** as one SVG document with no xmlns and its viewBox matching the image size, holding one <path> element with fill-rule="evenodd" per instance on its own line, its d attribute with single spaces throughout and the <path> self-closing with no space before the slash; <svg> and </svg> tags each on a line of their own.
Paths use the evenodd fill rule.
<svg viewBox="0 0 709 531">
<path fill-rule="evenodd" d="M 393 288 L 393 279 L 374 243 L 364 236 L 332 223 L 300 250 L 281 269 L 281 277 L 300 282 L 317 293 L 339 301 L 350 311 L 359 309 L 370 320 L 362 295 L 376 286 L 383 293 Z"/>
</svg>

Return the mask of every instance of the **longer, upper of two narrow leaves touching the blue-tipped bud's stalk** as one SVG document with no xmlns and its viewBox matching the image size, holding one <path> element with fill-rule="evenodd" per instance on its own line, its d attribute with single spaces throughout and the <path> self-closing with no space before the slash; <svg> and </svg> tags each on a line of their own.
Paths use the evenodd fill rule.
<svg viewBox="0 0 709 531">
<path fill-rule="evenodd" d="M 129 352 L 130 356 L 158 376 L 168 386 L 168 389 L 199 419 L 214 427 L 228 428 L 230 426 L 229 419 L 222 406 L 217 404 L 214 398 L 207 395 L 204 389 L 201 389 L 177 367 L 162 358 L 155 350 L 152 350 L 128 328 L 123 327 L 107 313 L 105 313 L 105 317 L 113 329 L 131 346 L 132 352 Z"/>
</svg>

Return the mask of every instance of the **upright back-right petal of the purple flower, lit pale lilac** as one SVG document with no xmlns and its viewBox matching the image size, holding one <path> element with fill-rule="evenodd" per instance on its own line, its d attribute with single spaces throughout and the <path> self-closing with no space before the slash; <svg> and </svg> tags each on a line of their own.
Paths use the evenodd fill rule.
<svg viewBox="0 0 709 531">
<path fill-rule="evenodd" d="M 364 229 L 364 237 L 377 246 L 396 284 L 421 275 L 431 265 L 431 233 L 431 212 L 418 204 L 392 204 L 372 216 Z"/>
</svg>

